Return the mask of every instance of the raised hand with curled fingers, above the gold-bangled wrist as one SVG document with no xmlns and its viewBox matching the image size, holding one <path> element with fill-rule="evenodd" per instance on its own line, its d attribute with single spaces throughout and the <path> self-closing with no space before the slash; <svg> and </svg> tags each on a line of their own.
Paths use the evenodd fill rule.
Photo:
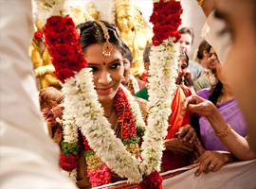
<svg viewBox="0 0 256 189">
<path fill-rule="evenodd" d="M 186 111 L 192 111 L 204 116 L 208 116 L 211 112 L 216 111 L 216 107 L 209 100 L 206 100 L 196 94 L 192 94 L 180 103 L 180 114 L 185 115 Z"/>
</svg>

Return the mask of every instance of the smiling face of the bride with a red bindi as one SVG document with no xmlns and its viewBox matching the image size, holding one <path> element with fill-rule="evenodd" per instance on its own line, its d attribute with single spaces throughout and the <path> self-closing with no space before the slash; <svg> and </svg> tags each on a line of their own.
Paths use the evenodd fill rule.
<svg viewBox="0 0 256 189">
<path fill-rule="evenodd" d="M 111 56 L 102 55 L 102 45 L 92 44 L 84 53 L 88 67 L 92 68 L 95 90 L 101 103 L 114 99 L 123 77 L 123 60 L 121 53 L 114 47 Z"/>
</svg>

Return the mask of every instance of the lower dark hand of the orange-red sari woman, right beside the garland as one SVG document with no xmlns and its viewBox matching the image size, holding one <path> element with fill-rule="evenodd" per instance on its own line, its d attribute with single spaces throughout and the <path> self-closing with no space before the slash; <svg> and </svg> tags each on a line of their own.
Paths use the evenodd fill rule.
<svg viewBox="0 0 256 189">
<path fill-rule="evenodd" d="M 193 145 L 177 138 L 165 140 L 164 145 L 167 150 L 172 151 L 175 155 L 187 156 L 193 151 Z"/>
</svg>

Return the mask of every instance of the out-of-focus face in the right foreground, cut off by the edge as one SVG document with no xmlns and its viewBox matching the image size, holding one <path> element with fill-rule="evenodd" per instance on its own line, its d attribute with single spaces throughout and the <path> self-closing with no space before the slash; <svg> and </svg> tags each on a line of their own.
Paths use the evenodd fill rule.
<svg viewBox="0 0 256 189">
<path fill-rule="evenodd" d="M 245 113 L 248 126 L 256 123 L 255 4 L 255 0 L 216 0 L 217 15 L 226 24 L 220 34 L 228 33 L 230 36 L 223 72 Z"/>
</svg>

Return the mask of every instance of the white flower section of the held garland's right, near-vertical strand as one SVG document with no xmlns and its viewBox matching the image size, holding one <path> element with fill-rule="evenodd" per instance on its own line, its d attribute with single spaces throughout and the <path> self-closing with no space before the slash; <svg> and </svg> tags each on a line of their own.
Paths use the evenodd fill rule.
<svg viewBox="0 0 256 189">
<path fill-rule="evenodd" d="M 160 171 L 163 140 L 167 135 L 168 117 L 171 114 L 172 96 L 177 75 L 178 48 L 174 38 L 163 41 L 159 46 L 152 46 L 150 53 L 149 78 L 149 117 L 143 137 L 141 169 L 149 175 L 152 171 Z"/>
</svg>

